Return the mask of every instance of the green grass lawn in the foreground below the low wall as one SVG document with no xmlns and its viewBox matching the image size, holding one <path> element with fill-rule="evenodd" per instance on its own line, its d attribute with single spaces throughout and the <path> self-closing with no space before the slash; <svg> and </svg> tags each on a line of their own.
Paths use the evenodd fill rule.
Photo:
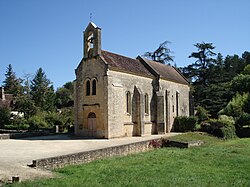
<svg viewBox="0 0 250 187">
<path fill-rule="evenodd" d="M 250 186 L 250 139 L 222 141 L 198 133 L 175 140 L 203 140 L 189 149 L 163 148 L 58 169 L 54 179 L 16 186 Z"/>
</svg>

